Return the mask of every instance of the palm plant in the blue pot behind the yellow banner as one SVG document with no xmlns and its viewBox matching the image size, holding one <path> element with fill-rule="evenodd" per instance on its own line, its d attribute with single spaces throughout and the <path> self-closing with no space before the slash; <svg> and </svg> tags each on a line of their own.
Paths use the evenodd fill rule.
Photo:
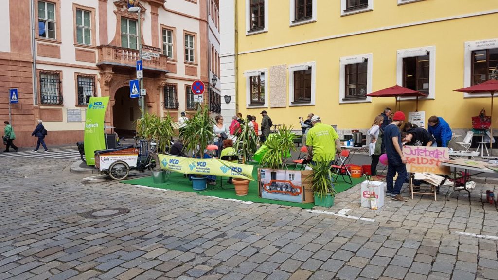
<svg viewBox="0 0 498 280">
<path fill-rule="evenodd" d="M 192 151 L 196 158 L 204 157 L 204 149 L 210 141 L 213 140 L 213 126 L 215 122 L 211 119 L 209 108 L 200 107 L 192 118 L 185 122 L 185 127 L 180 132 L 180 138 L 183 141 L 184 150 Z M 195 175 L 192 177 L 192 187 L 195 190 L 206 189 L 207 177 L 204 175 Z"/>
</svg>

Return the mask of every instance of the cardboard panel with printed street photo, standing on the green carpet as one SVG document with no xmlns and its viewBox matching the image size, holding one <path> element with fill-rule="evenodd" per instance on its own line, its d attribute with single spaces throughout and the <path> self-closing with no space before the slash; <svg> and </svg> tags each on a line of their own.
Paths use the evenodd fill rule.
<svg viewBox="0 0 498 280">
<path fill-rule="evenodd" d="M 258 168 L 259 197 L 297 203 L 312 203 L 311 170 Z"/>
</svg>

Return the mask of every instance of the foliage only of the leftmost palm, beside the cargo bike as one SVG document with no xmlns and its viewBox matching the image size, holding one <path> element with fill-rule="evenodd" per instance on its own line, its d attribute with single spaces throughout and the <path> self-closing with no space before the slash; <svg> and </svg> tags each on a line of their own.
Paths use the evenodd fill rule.
<svg viewBox="0 0 498 280">
<path fill-rule="evenodd" d="M 136 121 L 136 133 L 139 137 L 157 141 L 157 152 L 167 151 L 170 141 L 175 136 L 173 118 L 167 114 L 160 118 L 154 114 L 145 113 Z"/>
</svg>

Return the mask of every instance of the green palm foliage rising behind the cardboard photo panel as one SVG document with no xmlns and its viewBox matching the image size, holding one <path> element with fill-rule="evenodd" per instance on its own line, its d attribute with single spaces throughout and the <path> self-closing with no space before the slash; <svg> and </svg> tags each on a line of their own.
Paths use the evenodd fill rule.
<svg viewBox="0 0 498 280">
<path fill-rule="evenodd" d="M 296 135 L 292 132 L 292 127 L 286 126 L 282 126 L 278 132 L 270 134 L 264 142 L 268 151 L 261 157 L 261 164 L 272 169 L 283 168 L 285 158 L 290 156 L 291 151 L 296 150 L 295 138 Z"/>
</svg>

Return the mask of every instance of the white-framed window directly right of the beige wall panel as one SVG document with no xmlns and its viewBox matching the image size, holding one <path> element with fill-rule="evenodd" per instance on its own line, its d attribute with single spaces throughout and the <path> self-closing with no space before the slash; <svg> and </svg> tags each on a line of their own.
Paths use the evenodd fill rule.
<svg viewBox="0 0 498 280">
<path fill-rule="evenodd" d="M 315 62 L 289 66 L 290 106 L 315 105 Z"/>
</svg>

